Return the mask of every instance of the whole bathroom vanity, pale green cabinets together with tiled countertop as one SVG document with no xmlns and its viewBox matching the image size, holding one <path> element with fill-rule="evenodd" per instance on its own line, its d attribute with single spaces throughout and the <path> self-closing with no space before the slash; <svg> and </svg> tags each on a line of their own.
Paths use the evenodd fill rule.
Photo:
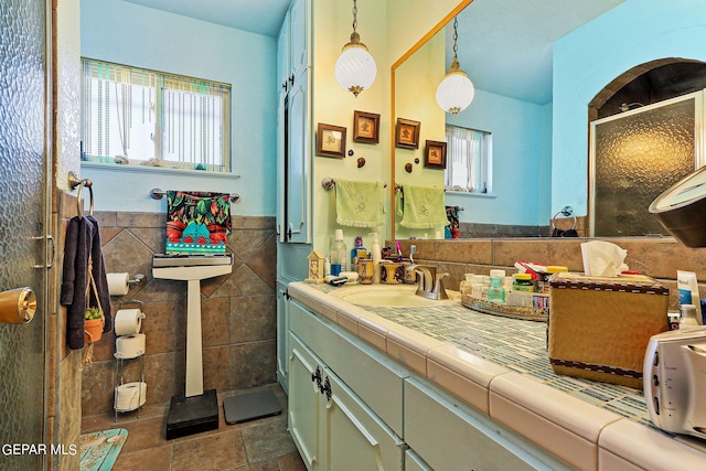
<svg viewBox="0 0 706 471">
<path fill-rule="evenodd" d="M 374 306 L 386 288 L 288 287 L 289 428 L 309 470 L 706 467 L 706 443 L 652 427 L 640 390 L 556 375 L 546 324 Z"/>
</svg>

